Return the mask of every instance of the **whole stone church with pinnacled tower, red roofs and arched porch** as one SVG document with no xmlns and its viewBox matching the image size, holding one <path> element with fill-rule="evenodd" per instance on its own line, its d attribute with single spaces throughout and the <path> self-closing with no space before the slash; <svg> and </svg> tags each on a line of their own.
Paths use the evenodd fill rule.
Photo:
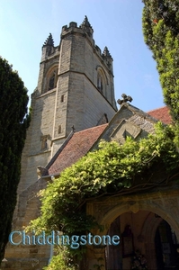
<svg viewBox="0 0 179 270">
<path fill-rule="evenodd" d="M 62 27 L 57 47 L 51 34 L 42 46 L 13 230 L 22 230 L 40 215 L 40 190 L 97 148 L 101 139 L 122 144 L 127 136 L 141 139 L 154 133 L 157 121 L 172 121 L 166 107 L 143 112 L 129 103 L 131 97 L 126 94 L 117 109 L 112 56 L 107 47 L 101 50 L 95 44 L 93 33 L 85 16 L 79 26 L 72 22 Z M 155 177 L 153 181 L 160 183 L 165 175 Z M 115 232 L 122 241 L 115 247 L 88 250 L 81 270 L 93 269 L 99 258 L 103 258 L 101 270 L 179 269 L 178 210 L 179 184 L 87 202 L 86 212 L 104 226 L 103 234 Z M 131 268 L 137 250 L 148 268 Z M 1 269 L 41 270 L 52 255 L 47 245 L 8 243 Z"/>
</svg>

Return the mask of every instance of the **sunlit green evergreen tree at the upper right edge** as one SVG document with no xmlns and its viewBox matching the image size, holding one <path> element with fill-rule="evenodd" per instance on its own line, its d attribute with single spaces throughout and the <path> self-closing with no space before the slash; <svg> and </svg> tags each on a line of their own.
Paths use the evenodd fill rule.
<svg viewBox="0 0 179 270">
<path fill-rule="evenodd" d="M 163 88 L 164 101 L 179 125 L 179 0 L 143 0 L 143 33 Z"/>
</svg>

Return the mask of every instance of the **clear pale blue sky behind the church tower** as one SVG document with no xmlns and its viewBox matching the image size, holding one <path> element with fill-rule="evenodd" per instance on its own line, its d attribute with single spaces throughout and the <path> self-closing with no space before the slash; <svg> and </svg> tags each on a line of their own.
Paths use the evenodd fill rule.
<svg viewBox="0 0 179 270">
<path fill-rule="evenodd" d="M 148 112 L 164 106 L 156 62 L 144 43 L 141 0 L 1 0 L 0 55 L 22 77 L 29 94 L 37 86 L 41 47 L 52 33 L 58 46 L 63 25 L 87 15 L 94 40 L 113 58 L 116 99 L 130 94 Z"/>
</svg>

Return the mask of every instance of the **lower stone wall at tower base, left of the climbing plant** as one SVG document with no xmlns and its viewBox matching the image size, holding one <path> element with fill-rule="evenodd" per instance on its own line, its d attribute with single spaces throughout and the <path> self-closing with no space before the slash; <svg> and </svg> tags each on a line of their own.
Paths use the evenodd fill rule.
<svg viewBox="0 0 179 270">
<path fill-rule="evenodd" d="M 38 193 L 46 187 L 46 184 L 45 180 L 39 179 L 19 195 L 12 231 L 22 232 L 31 220 L 40 215 L 40 198 Z M 27 232 L 26 235 L 31 236 L 31 233 Z M 22 237 L 19 236 L 19 233 L 14 234 L 13 243 L 19 243 L 20 241 L 22 241 Z M 26 238 L 25 243 L 26 245 L 22 245 L 22 243 L 19 245 L 8 243 L 1 269 L 40 270 L 43 266 L 48 265 L 50 246 L 32 245 L 31 242 L 28 242 L 28 238 Z"/>
</svg>

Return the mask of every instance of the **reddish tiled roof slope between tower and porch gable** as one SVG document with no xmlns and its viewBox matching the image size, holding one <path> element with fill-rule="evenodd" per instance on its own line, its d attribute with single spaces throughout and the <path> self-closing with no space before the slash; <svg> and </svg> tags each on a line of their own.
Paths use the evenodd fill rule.
<svg viewBox="0 0 179 270">
<path fill-rule="evenodd" d="M 49 175 L 60 173 L 67 166 L 74 164 L 80 157 L 84 157 L 107 126 L 108 124 L 103 124 L 74 133 L 67 145 L 62 148 L 54 163 L 49 167 Z"/>
</svg>

